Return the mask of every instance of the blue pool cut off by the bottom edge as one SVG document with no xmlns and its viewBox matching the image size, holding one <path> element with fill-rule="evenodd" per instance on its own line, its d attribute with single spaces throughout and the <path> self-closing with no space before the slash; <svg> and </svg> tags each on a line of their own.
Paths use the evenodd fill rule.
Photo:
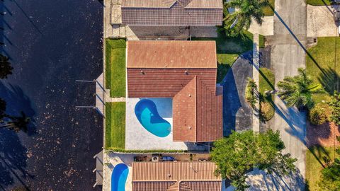
<svg viewBox="0 0 340 191">
<path fill-rule="evenodd" d="M 111 175 L 111 191 L 125 191 L 125 183 L 128 178 L 129 168 L 124 163 L 120 163 Z"/>
</svg>

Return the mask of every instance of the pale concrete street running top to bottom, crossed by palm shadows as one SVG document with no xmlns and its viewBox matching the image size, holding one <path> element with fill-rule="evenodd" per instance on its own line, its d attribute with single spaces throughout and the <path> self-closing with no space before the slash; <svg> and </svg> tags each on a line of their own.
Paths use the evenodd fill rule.
<svg viewBox="0 0 340 191">
<path fill-rule="evenodd" d="M 307 42 L 307 6 L 305 0 L 277 0 L 275 2 L 274 36 L 271 40 L 271 66 L 277 82 L 285 76 L 295 76 L 299 67 L 305 67 L 305 44 Z M 287 108 L 278 96 L 275 97 L 276 114 L 273 117 L 273 130 L 280 131 L 285 143 L 285 152 L 297 158 L 295 165 L 302 177 L 305 176 L 306 117 L 296 108 Z M 296 178 L 297 180 L 298 178 Z M 287 180 L 293 190 L 295 179 Z M 299 190 L 303 190 L 300 187 Z"/>
</svg>

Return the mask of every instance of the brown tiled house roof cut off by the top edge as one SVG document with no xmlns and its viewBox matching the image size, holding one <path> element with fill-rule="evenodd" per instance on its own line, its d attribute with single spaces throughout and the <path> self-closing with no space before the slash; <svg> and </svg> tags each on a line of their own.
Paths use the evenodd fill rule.
<svg viewBox="0 0 340 191">
<path fill-rule="evenodd" d="M 125 25 L 222 25 L 222 0 L 123 0 Z"/>
</svg>

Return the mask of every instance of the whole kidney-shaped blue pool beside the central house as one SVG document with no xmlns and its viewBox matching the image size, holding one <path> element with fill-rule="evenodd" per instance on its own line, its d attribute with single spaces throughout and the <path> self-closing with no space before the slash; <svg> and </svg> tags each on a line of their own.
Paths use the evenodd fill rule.
<svg viewBox="0 0 340 191">
<path fill-rule="evenodd" d="M 156 104 L 152 100 L 140 100 L 135 106 L 135 114 L 148 132 L 157 137 L 166 137 L 170 134 L 170 123 L 158 114 Z"/>
</svg>

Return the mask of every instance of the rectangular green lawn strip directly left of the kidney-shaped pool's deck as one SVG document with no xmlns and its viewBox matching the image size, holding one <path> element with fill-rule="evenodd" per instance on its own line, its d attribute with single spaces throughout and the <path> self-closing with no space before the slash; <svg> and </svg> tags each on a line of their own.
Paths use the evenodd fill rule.
<svg viewBox="0 0 340 191">
<path fill-rule="evenodd" d="M 106 149 L 125 149 L 125 102 L 106 103 Z"/>
</svg>

